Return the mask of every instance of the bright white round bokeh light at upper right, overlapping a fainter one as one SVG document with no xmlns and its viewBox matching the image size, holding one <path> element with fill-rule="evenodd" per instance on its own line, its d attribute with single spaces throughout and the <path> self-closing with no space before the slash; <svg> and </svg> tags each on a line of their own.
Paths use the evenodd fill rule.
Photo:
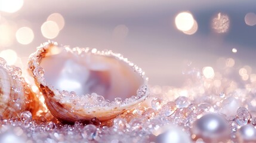
<svg viewBox="0 0 256 143">
<path fill-rule="evenodd" d="M 194 25 L 194 18 L 191 13 L 182 12 L 175 17 L 175 25 L 178 30 L 188 31 L 192 29 Z"/>
</svg>

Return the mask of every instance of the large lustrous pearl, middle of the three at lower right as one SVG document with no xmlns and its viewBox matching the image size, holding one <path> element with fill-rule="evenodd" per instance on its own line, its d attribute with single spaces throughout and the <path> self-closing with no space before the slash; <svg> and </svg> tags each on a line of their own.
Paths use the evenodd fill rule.
<svg viewBox="0 0 256 143">
<path fill-rule="evenodd" d="M 227 121 L 219 114 L 205 114 L 196 120 L 191 129 L 194 139 L 202 138 L 205 142 L 223 141 L 229 137 Z"/>
</svg>

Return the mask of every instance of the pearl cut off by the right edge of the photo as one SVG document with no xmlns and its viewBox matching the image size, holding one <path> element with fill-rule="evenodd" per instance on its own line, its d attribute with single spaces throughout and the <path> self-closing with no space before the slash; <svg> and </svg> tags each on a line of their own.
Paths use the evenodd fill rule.
<svg viewBox="0 0 256 143">
<path fill-rule="evenodd" d="M 240 142 L 256 142 L 256 129 L 252 125 L 242 126 L 238 131 Z"/>
</svg>

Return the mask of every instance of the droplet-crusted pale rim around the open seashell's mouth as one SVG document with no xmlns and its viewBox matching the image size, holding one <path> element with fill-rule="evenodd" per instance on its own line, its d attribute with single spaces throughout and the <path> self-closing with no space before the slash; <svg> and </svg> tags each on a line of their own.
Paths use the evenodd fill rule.
<svg viewBox="0 0 256 143">
<path fill-rule="evenodd" d="M 41 89 L 40 86 L 45 86 L 45 87 L 47 86 L 51 91 L 54 92 L 54 95 L 56 92 L 58 94 L 61 94 L 60 93 L 61 90 L 55 89 L 54 86 L 51 86 L 47 83 L 47 81 L 44 78 L 44 75 L 43 76 L 35 75 L 35 72 L 37 72 L 36 70 L 38 70 L 38 69 L 44 70 L 40 66 L 40 63 L 41 63 L 42 58 L 45 57 L 45 54 L 47 54 L 48 48 L 50 48 L 51 46 L 63 47 L 67 52 L 72 52 L 72 54 L 81 54 L 82 52 L 85 52 L 85 53 L 91 53 L 91 54 L 95 54 L 95 55 L 113 57 L 119 61 L 123 61 L 125 64 L 128 64 L 128 66 L 130 66 L 132 69 L 134 69 L 135 72 L 137 72 L 140 75 L 140 77 L 143 79 L 143 83 L 141 84 L 140 88 L 137 89 L 137 91 L 138 90 L 143 91 L 143 94 L 140 95 L 137 92 L 137 95 L 132 95 L 131 97 L 125 98 L 124 100 L 122 100 L 121 104 L 115 104 L 115 103 L 113 103 L 115 101 L 112 101 L 112 102 L 110 102 L 110 104 L 106 104 L 105 107 L 112 108 L 112 109 L 116 108 L 116 107 L 120 107 L 120 106 L 127 107 L 129 105 L 134 105 L 134 104 L 137 104 L 138 102 L 142 102 L 142 101 L 146 100 L 146 98 L 148 97 L 148 95 L 150 93 L 148 85 L 147 85 L 149 78 L 144 75 L 145 72 L 140 67 L 138 67 L 137 65 L 135 65 L 134 63 L 129 61 L 127 58 L 124 58 L 123 55 L 112 52 L 111 50 L 97 51 L 97 49 L 95 49 L 95 48 L 88 48 L 88 47 L 87 48 L 79 48 L 79 47 L 70 48 L 69 46 L 58 45 L 58 43 L 54 42 L 54 41 L 48 41 L 48 42 L 41 43 L 41 45 L 38 46 L 36 52 L 33 52 L 29 56 L 28 67 L 29 67 L 30 71 L 32 72 L 32 75 L 35 79 L 36 84 L 38 84 L 39 89 Z M 66 91 L 66 92 L 68 92 L 70 94 L 70 92 L 72 92 L 72 91 Z M 86 94 L 84 94 L 84 95 L 86 95 Z M 96 105 L 94 106 L 93 104 L 91 107 L 94 107 L 94 110 L 95 110 L 95 107 L 97 108 L 97 106 Z M 87 108 L 87 110 L 90 110 L 91 107 Z M 101 110 L 101 111 L 109 110 L 107 108 L 98 107 L 98 110 Z"/>
</svg>

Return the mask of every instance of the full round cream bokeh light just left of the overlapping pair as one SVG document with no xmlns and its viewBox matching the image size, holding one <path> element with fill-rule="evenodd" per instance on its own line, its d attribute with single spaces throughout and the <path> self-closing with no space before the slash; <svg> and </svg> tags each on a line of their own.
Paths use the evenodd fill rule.
<svg viewBox="0 0 256 143">
<path fill-rule="evenodd" d="M 21 27 L 16 32 L 16 39 L 19 43 L 23 45 L 31 43 L 34 39 L 33 30 L 29 27 Z"/>
</svg>

